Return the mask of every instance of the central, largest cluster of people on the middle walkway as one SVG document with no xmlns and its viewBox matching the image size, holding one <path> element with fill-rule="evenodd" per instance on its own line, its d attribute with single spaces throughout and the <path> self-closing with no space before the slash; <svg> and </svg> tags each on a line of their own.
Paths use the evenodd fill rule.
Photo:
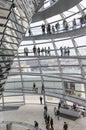
<svg viewBox="0 0 86 130">
<path fill-rule="evenodd" d="M 48 46 L 48 48 L 46 48 L 46 47 L 36 48 L 36 46 L 34 45 L 33 46 L 33 53 L 34 53 L 35 56 L 36 55 L 38 55 L 38 56 L 40 56 L 40 55 L 50 56 L 50 47 Z"/>
</svg>

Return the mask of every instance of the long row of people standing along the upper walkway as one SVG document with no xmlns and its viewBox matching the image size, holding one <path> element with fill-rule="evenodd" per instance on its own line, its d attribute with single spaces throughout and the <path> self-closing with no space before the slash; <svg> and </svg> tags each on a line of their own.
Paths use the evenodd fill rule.
<svg viewBox="0 0 86 130">
<path fill-rule="evenodd" d="M 78 23 L 77 20 L 79 20 L 80 26 L 82 27 L 83 24 L 86 24 L 86 15 L 82 15 L 78 19 L 74 18 L 72 20 L 72 27 L 71 28 L 76 29 L 76 26 Z M 63 26 L 63 30 L 65 30 L 65 31 L 67 31 L 70 28 L 70 25 L 66 19 L 63 19 L 62 26 Z M 48 23 L 46 25 L 42 24 L 41 29 L 42 29 L 42 34 L 45 34 L 45 33 L 47 33 L 47 34 L 53 33 L 54 34 L 55 32 L 58 32 L 59 29 L 61 29 L 61 25 L 59 22 L 56 22 L 54 25 L 51 25 L 50 23 Z M 31 32 L 30 28 L 29 28 L 28 32 L 29 32 L 29 36 L 31 36 L 32 32 Z"/>
</svg>

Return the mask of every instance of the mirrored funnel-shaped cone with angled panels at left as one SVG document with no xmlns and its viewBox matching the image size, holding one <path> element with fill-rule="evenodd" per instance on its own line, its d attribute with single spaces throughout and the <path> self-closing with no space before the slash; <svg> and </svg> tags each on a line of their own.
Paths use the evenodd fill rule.
<svg viewBox="0 0 86 130">
<path fill-rule="evenodd" d="M 0 1 L 0 97 L 20 42 L 40 0 Z M 27 8 L 28 7 L 28 8 Z"/>
</svg>

